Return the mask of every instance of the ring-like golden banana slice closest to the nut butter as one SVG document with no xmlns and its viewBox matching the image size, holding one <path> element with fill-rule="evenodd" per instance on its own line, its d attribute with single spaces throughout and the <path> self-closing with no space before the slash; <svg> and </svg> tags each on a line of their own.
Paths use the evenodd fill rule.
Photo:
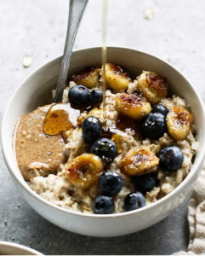
<svg viewBox="0 0 205 256">
<path fill-rule="evenodd" d="M 68 164 L 65 177 L 76 187 L 88 189 L 98 181 L 103 167 L 103 162 L 97 155 L 82 154 Z"/>
</svg>

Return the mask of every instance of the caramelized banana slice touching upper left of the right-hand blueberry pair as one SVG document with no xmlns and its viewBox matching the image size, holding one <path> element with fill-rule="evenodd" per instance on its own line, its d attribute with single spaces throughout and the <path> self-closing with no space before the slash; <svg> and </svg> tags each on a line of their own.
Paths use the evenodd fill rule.
<svg viewBox="0 0 205 256">
<path fill-rule="evenodd" d="M 151 112 L 151 104 L 144 96 L 137 94 L 126 94 L 122 92 L 116 97 L 117 112 L 122 113 L 131 119 L 140 120 L 147 113 Z"/>
</svg>

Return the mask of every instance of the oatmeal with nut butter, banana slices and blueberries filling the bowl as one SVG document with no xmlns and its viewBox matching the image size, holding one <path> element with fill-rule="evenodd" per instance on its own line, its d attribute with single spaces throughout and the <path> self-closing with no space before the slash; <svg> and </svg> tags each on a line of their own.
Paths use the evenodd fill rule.
<svg viewBox="0 0 205 256">
<path fill-rule="evenodd" d="M 16 159 L 31 189 L 57 206 L 132 211 L 168 195 L 189 174 L 199 144 L 194 119 L 189 103 L 169 94 L 167 79 L 143 71 L 133 80 L 109 63 L 104 119 L 101 73 L 94 67 L 72 75 L 63 103 L 20 117 Z"/>
</svg>

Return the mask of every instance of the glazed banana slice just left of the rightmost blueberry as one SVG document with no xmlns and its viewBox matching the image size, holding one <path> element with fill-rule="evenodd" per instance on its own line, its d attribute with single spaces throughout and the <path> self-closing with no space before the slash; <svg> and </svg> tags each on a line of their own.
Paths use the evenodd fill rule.
<svg viewBox="0 0 205 256">
<path fill-rule="evenodd" d="M 122 171 L 128 175 L 156 172 L 158 164 L 157 156 L 146 147 L 130 149 L 122 154 Z"/>
</svg>

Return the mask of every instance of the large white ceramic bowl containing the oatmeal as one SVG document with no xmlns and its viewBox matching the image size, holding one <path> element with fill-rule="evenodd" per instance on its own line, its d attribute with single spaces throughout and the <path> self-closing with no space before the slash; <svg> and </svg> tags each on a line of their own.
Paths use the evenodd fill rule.
<svg viewBox="0 0 205 256">
<path fill-rule="evenodd" d="M 57 207 L 33 192 L 24 181 L 14 158 L 12 133 L 16 120 L 22 113 L 29 113 L 47 102 L 51 95 L 50 90 L 55 88 L 57 83 L 61 57 L 49 61 L 31 73 L 14 92 L 3 116 L 1 139 L 4 160 L 20 194 L 35 211 L 65 230 L 87 236 L 122 236 L 144 230 L 167 217 L 191 192 L 193 184 L 202 170 L 205 154 L 205 119 L 202 99 L 191 82 L 179 70 L 154 55 L 136 49 L 108 47 L 108 61 L 121 64 L 135 76 L 142 70 L 151 70 L 166 77 L 171 90 L 191 104 L 200 146 L 191 172 L 185 180 L 169 195 L 148 207 L 111 215 L 84 214 Z M 86 66 L 100 66 L 100 63 L 100 47 L 77 50 L 73 52 L 71 58 L 69 75 Z"/>
</svg>

